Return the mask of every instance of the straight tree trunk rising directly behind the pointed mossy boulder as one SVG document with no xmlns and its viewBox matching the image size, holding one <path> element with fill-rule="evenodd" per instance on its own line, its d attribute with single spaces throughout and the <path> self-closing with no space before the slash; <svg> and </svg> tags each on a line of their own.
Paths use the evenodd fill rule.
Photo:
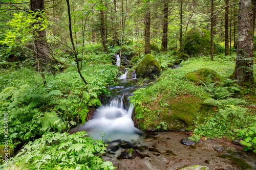
<svg viewBox="0 0 256 170">
<path fill-rule="evenodd" d="M 145 14 L 145 55 L 151 54 L 151 46 L 150 46 L 150 0 L 148 0 L 145 4 L 146 14 Z"/>
</svg>

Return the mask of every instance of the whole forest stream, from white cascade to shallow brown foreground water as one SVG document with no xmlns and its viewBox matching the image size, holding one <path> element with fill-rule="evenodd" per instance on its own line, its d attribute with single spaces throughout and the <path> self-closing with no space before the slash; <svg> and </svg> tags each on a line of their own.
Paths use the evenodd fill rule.
<svg viewBox="0 0 256 170">
<path fill-rule="evenodd" d="M 126 74 L 127 71 L 119 77 L 118 85 L 109 88 L 111 95 L 97 109 L 94 118 L 70 131 L 87 131 L 95 140 L 102 135 L 105 141 L 110 138 L 102 156 L 104 161 L 113 162 L 117 169 L 174 170 L 193 165 L 209 169 L 256 169 L 256 156 L 243 152 L 242 147 L 228 140 L 208 139 L 184 145 L 181 140 L 188 132 L 142 132 L 135 128 L 131 118 L 134 105 L 129 96 L 138 88 L 137 79 L 127 80 Z M 124 141 L 133 150 L 121 148 L 119 143 Z"/>
</svg>

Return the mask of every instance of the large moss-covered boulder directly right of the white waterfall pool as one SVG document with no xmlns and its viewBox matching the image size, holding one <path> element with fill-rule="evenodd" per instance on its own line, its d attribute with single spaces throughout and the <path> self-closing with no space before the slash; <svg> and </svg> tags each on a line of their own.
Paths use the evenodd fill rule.
<svg viewBox="0 0 256 170">
<path fill-rule="evenodd" d="M 150 109 L 136 106 L 132 118 L 135 127 L 141 130 L 185 130 L 194 125 L 193 120 L 198 115 L 202 115 L 202 103 L 199 96 L 188 94 L 170 99 L 156 99 L 150 105 L 147 104 Z"/>
</svg>

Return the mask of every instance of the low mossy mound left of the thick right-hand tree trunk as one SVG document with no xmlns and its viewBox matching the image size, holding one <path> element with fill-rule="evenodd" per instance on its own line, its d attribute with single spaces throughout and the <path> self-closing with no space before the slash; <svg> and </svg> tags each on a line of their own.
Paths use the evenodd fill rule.
<svg viewBox="0 0 256 170">
<path fill-rule="evenodd" d="M 186 78 L 194 83 L 215 83 L 217 81 L 223 81 L 223 77 L 219 75 L 216 71 L 210 70 L 209 68 L 201 68 L 194 72 L 189 72 Z"/>
</svg>

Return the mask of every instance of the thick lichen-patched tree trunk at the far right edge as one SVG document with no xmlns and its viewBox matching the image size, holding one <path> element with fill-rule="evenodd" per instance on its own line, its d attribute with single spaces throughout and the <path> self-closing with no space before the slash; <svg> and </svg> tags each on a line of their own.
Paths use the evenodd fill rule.
<svg viewBox="0 0 256 170">
<path fill-rule="evenodd" d="M 238 50 L 234 77 L 239 83 L 253 82 L 253 2 L 240 0 Z"/>
</svg>

